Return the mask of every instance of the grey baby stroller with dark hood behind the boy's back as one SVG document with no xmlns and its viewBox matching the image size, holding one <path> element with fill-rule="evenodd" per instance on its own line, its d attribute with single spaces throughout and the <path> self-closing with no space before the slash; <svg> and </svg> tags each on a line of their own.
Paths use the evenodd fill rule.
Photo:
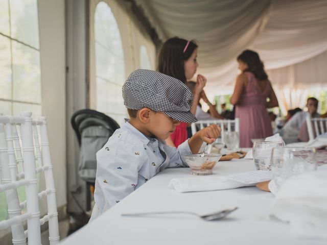
<svg viewBox="0 0 327 245">
<path fill-rule="evenodd" d="M 120 127 L 111 117 L 90 109 L 75 112 L 71 124 L 80 146 L 78 175 L 86 182 L 86 209 L 90 210 L 90 186 L 94 187 L 97 173 L 96 153 Z"/>
</svg>

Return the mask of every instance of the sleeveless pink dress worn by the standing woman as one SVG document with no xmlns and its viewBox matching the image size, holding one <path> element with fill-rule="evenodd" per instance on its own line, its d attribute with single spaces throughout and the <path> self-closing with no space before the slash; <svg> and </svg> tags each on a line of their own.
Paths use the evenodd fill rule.
<svg viewBox="0 0 327 245">
<path fill-rule="evenodd" d="M 236 105 L 235 117 L 240 118 L 240 147 L 252 147 L 251 139 L 272 135 L 266 100 L 272 87 L 270 82 L 264 91 L 251 72 L 245 72 L 248 83 Z"/>
</svg>

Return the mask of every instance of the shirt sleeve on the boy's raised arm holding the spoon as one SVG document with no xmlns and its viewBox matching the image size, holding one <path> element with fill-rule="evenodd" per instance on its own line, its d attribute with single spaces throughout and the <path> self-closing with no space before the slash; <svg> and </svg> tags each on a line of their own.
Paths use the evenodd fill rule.
<svg viewBox="0 0 327 245">
<path fill-rule="evenodd" d="M 170 161 L 167 167 L 188 167 L 189 165 L 184 162 L 181 156 L 190 155 L 192 151 L 190 149 L 189 140 L 185 140 L 178 148 L 165 145 L 165 152 L 169 156 Z"/>
</svg>

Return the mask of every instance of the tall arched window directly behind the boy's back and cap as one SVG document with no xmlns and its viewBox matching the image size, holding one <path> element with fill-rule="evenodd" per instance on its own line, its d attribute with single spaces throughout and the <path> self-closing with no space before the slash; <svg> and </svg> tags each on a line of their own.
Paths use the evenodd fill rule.
<svg viewBox="0 0 327 245">
<path fill-rule="evenodd" d="M 122 97 L 125 82 L 123 45 L 110 7 L 100 2 L 95 11 L 96 108 L 120 121 L 126 115 Z"/>
</svg>

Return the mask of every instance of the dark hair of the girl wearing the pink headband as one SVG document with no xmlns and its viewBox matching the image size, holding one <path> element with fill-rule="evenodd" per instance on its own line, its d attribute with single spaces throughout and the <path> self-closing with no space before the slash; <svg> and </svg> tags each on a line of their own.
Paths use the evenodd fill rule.
<svg viewBox="0 0 327 245">
<path fill-rule="evenodd" d="M 178 37 L 168 39 L 159 53 L 158 71 L 186 84 L 184 62 L 191 57 L 197 47 L 193 40 Z"/>
</svg>

